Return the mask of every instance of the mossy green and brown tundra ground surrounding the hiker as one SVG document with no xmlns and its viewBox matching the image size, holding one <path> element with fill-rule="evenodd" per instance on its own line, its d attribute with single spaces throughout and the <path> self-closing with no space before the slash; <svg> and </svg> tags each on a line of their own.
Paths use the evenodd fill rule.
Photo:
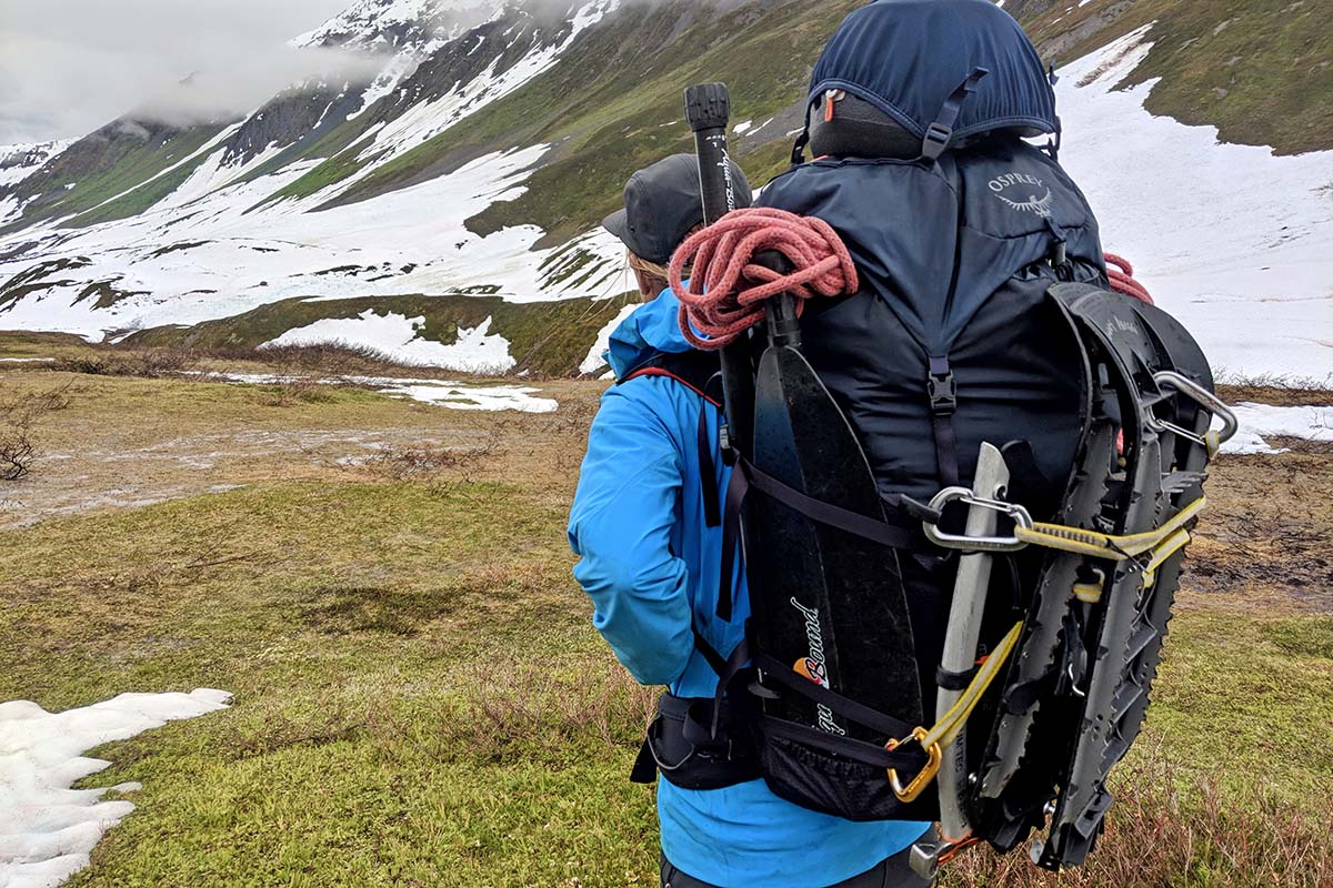
<svg viewBox="0 0 1333 888">
<path fill-rule="evenodd" d="M 469 413 L 0 354 L 61 359 L 0 365 L 4 403 L 60 393 L 0 486 L 0 700 L 235 694 L 93 752 L 87 785 L 143 789 L 71 885 L 656 884 L 625 780 L 653 691 L 589 627 L 563 533 L 605 383 Z M 1292 447 L 1217 463 L 1092 865 L 974 853 L 945 885 L 1333 885 L 1333 450 Z"/>
</svg>

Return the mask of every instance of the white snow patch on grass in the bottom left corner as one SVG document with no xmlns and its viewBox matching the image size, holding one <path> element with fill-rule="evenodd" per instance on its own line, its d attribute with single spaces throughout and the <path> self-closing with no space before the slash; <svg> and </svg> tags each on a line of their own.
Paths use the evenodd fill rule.
<svg viewBox="0 0 1333 888">
<path fill-rule="evenodd" d="M 64 712 L 27 700 L 0 703 L 0 885 L 59 885 L 87 867 L 103 833 L 135 809 L 129 801 L 103 801 L 107 789 L 69 788 L 111 764 L 85 758 L 85 750 L 225 710 L 231 696 L 207 688 L 121 694 Z M 139 788 L 111 787 L 125 793 Z"/>
</svg>

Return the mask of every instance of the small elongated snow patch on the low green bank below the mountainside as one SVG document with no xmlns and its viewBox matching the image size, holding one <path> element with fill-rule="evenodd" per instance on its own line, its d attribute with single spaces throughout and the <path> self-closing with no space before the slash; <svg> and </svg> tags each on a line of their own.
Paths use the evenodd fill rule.
<svg viewBox="0 0 1333 888">
<path fill-rule="evenodd" d="M 269 339 L 261 349 L 281 345 L 345 343 L 392 354 L 404 363 L 445 367 L 465 373 L 504 373 L 513 369 L 509 341 L 491 333 L 491 317 L 476 328 L 459 328 L 459 338 L 452 345 L 423 339 L 425 316 L 408 318 L 389 312 L 377 314 L 367 309 L 355 318 L 324 318 L 315 324 L 288 330 Z"/>
</svg>

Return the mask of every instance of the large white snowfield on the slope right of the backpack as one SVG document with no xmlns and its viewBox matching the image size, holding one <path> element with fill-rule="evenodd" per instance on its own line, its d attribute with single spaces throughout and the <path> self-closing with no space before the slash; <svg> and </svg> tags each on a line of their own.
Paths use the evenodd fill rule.
<svg viewBox="0 0 1333 888">
<path fill-rule="evenodd" d="M 1333 375 L 1333 152 L 1277 157 L 1144 109 L 1144 27 L 1060 71 L 1061 164 L 1222 378 Z"/>
</svg>

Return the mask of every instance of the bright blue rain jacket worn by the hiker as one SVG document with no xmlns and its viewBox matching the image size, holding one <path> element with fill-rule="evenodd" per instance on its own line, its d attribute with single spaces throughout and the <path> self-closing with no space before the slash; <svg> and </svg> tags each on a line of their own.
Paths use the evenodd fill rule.
<svg viewBox="0 0 1333 888">
<path fill-rule="evenodd" d="M 616 377 L 659 351 L 689 343 L 670 290 L 631 314 L 611 337 Z M 706 413 L 717 442 L 716 410 Z M 718 620 L 722 534 L 708 527 L 700 485 L 700 397 L 665 377 L 612 386 L 588 437 L 569 515 L 575 578 L 593 602 L 593 626 L 643 684 L 712 696 L 717 676 L 693 648 L 690 622 L 724 655 L 744 635 L 749 598 L 738 578 L 734 616 Z M 730 469 L 714 450 L 718 490 Z M 657 784 L 663 852 L 681 871 L 721 888 L 824 888 L 870 869 L 929 824 L 852 823 L 773 795 L 762 780 L 724 789 Z"/>
</svg>

